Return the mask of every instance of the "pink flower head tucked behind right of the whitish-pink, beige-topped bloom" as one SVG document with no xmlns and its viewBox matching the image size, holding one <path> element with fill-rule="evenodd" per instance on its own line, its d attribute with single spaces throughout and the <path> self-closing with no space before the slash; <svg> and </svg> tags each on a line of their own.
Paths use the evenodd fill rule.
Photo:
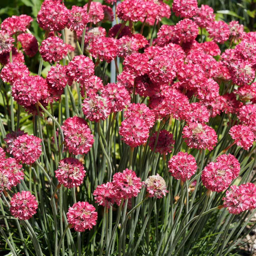
<svg viewBox="0 0 256 256">
<path fill-rule="evenodd" d="M 121 111 L 131 101 L 129 92 L 120 83 L 108 83 L 101 93 L 101 96 L 110 102 L 111 112 Z"/>
</svg>

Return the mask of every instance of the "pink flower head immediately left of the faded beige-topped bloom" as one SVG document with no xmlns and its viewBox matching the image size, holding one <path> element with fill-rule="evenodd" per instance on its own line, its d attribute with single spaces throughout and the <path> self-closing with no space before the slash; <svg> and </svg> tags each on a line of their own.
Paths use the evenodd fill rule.
<svg viewBox="0 0 256 256">
<path fill-rule="evenodd" d="M 132 198 L 140 193 L 142 183 L 140 182 L 133 170 L 126 168 L 123 172 L 118 172 L 113 175 L 113 186 L 118 198 Z"/>
</svg>

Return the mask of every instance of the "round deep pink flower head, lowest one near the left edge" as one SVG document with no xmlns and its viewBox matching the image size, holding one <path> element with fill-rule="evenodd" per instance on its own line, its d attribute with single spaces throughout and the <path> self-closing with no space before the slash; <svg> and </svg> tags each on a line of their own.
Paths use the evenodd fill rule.
<svg viewBox="0 0 256 256">
<path fill-rule="evenodd" d="M 12 216 L 20 220 L 28 220 L 35 213 L 38 208 L 38 202 L 34 195 L 29 191 L 22 190 L 13 195 L 10 201 L 10 212 Z"/>
</svg>

